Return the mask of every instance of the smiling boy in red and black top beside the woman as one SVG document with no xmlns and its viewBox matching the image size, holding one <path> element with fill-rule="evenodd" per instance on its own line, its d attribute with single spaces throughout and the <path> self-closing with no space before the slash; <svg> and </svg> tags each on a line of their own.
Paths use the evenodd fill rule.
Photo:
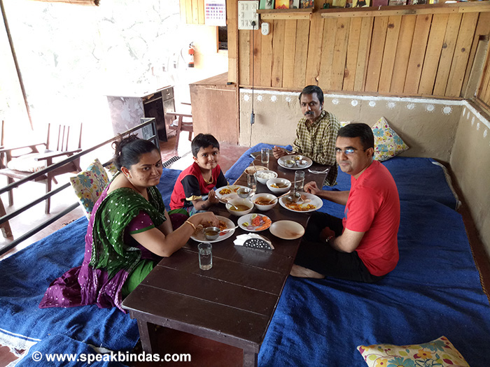
<svg viewBox="0 0 490 367">
<path fill-rule="evenodd" d="M 228 185 L 218 161 L 220 144 L 211 134 L 198 134 L 190 143 L 194 163 L 181 172 L 170 199 L 170 208 L 186 209 L 190 215 L 219 202 L 214 188 Z"/>
</svg>

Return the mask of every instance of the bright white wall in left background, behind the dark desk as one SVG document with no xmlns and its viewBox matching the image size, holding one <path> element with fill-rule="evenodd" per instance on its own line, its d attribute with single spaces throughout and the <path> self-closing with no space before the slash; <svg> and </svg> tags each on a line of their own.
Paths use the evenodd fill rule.
<svg viewBox="0 0 490 367">
<path fill-rule="evenodd" d="M 228 54 L 213 46 L 216 27 L 181 24 L 179 0 L 3 3 L 35 125 L 83 122 L 84 137 L 102 139 L 112 136 L 106 94 L 177 85 L 177 98 L 188 101 L 188 82 L 228 71 Z M 183 59 L 190 42 L 197 50 L 194 69 Z M 3 29 L 0 43 L 0 92 L 11 98 L 0 114 L 12 138 L 29 124 Z"/>
</svg>

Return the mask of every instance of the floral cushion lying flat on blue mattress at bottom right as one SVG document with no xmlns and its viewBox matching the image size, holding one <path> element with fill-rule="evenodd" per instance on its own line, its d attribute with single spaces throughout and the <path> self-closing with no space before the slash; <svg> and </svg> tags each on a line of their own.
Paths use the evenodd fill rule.
<svg viewBox="0 0 490 367">
<path fill-rule="evenodd" d="M 445 336 L 417 345 L 359 345 L 357 350 L 369 367 L 469 367 Z"/>
</svg>

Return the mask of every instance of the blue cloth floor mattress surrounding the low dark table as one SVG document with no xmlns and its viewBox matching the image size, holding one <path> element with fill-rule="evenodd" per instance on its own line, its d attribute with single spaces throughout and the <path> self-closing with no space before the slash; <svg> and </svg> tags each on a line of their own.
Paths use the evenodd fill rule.
<svg viewBox="0 0 490 367">
<path fill-rule="evenodd" d="M 246 152 L 225 173 L 230 181 L 251 163 Z M 346 280 L 289 278 L 260 349 L 260 366 L 365 366 L 357 345 L 423 343 L 447 336 L 470 366 L 487 366 L 490 305 L 455 210 L 444 171 L 431 159 L 394 158 L 384 163 L 398 185 L 400 262 L 375 285 Z M 168 206 L 180 171 L 165 169 L 160 185 Z M 338 185 L 348 189 L 349 176 Z M 341 217 L 343 207 L 322 208 Z M 0 344 L 34 345 L 34 352 L 88 351 L 89 345 L 132 350 L 137 324 L 116 308 L 39 309 L 49 283 L 83 259 L 87 220 L 80 218 L 25 250 L 0 261 Z M 20 366 L 41 366 L 30 357 Z M 83 364 L 66 364 L 81 366 Z M 95 362 L 92 366 L 112 366 Z"/>
</svg>

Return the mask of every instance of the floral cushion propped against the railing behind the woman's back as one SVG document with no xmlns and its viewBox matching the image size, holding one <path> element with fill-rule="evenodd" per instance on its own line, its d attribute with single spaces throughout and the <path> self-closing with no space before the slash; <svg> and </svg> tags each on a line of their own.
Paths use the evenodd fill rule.
<svg viewBox="0 0 490 367">
<path fill-rule="evenodd" d="M 97 203 L 108 182 L 106 170 L 99 159 L 95 159 L 85 171 L 70 178 L 71 186 L 88 218 L 90 218 L 94 204 Z"/>
</svg>

